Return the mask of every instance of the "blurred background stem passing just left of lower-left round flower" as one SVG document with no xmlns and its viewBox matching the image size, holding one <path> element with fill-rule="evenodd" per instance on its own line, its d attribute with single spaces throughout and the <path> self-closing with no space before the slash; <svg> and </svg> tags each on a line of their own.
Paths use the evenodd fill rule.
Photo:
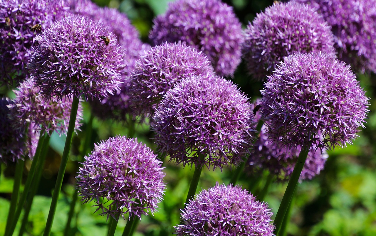
<svg viewBox="0 0 376 236">
<path fill-rule="evenodd" d="M 83 160 L 83 156 L 85 156 L 89 152 L 91 135 L 92 135 L 93 117 L 94 116 L 91 113 L 90 114 L 90 118 L 89 118 L 89 122 L 87 124 L 87 129 L 85 130 L 85 141 L 84 141 L 83 147 L 81 149 L 81 154 L 80 154 L 80 160 L 79 161 L 82 161 Z M 80 166 L 80 164 L 77 165 L 76 172 L 78 171 L 79 166 Z M 74 193 L 73 193 L 73 197 L 72 197 L 72 201 L 71 201 L 70 208 L 69 208 L 69 213 L 68 213 L 67 224 L 65 224 L 64 236 L 70 235 L 70 230 L 71 230 L 70 225 L 71 225 L 72 218 L 73 218 L 73 215 L 74 215 L 74 208 L 76 206 L 77 199 L 78 199 L 78 189 L 74 190 Z"/>
</svg>

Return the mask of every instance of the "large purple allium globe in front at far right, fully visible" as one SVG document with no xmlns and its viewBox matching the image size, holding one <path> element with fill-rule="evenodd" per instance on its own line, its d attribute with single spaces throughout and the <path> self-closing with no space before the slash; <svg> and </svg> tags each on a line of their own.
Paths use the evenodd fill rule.
<svg viewBox="0 0 376 236">
<path fill-rule="evenodd" d="M 268 136 L 290 147 L 346 145 L 367 118 L 368 98 L 350 66 L 324 53 L 285 57 L 261 94 Z"/>
</svg>

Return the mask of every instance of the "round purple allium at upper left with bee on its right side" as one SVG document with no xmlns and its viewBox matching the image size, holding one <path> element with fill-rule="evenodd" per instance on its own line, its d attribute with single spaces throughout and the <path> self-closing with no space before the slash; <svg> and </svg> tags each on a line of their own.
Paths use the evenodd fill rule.
<svg viewBox="0 0 376 236">
<path fill-rule="evenodd" d="M 35 39 L 28 66 L 44 97 L 107 96 L 121 85 L 125 53 L 105 25 L 69 15 Z"/>
</svg>

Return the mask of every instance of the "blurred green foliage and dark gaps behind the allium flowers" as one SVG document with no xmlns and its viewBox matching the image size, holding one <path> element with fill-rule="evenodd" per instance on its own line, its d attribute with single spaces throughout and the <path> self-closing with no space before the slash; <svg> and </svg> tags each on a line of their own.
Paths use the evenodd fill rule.
<svg viewBox="0 0 376 236">
<path fill-rule="evenodd" d="M 167 8 L 170 0 L 96 0 L 100 6 L 110 6 L 119 8 L 121 12 L 128 15 L 133 25 L 139 30 L 143 41 L 147 42 L 149 30 L 152 28 L 152 19 L 162 14 Z M 246 27 L 248 21 L 252 21 L 256 13 L 265 7 L 273 4 L 272 1 L 256 0 L 227 0 L 234 10 L 243 26 Z M 324 171 L 312 181 L 300 183 L 296 195 L 293 199 L 294 205 L 291 213 L 291 221 L 288 225 L 288 235 L 376 235 L 376 115 L 375 108 L 375 84 L 376 76 L 358 75 L 362 86 L 367 90 L 370 100 L 369 118 L 366 129 L 359 133 L 359 138 L 353 145 L 346 148 L 337 148 L 329 151 Z M 241 64 L 232 78 L 242 91 L 246 92 L 252 100 L 259 97 L 259 89 L 262 89 L 261 82 L 253 82 L 244 71 Z M 1 91 L 2 93 L 6 91 Z M 12 95 L 8 91 L 8 95 Z M 84 104 L 84 118 L 87 122 L 90 116 L 90 109 Z M 78 156 L 81 140 L 85 135 L 86 124 L 82 131 L 73 139 L 73 146 L 65 174 L 64 185 L 59 199 L 57 212 L 52 227 L 52 235 L 62 235 L 67 220 L 67 213 L 73 194 L 78 163 L 81 157 Z M 93 135 L 91 137 L 92 147 L 95 142 L 107 139 L 111 136 L 126 135 L 125 124 L 112 120 L 100 121 L 94 118 Z M 152 143 L 152 132 L 147 125 L 136 126 L 136 137 L 139 141 L 145 142 L 155 150 Z M 64 136 L 53 135 L 50 140 L 50 150 L 44 167 L 42 182 L 34 199 L 32 210 L 29 215 L 27 225 L 28 235 L 41 235 L 44 230 L 50 206 L 53 187 L 61 160 L 62 149 L 64 147 Z M 183 207 L 188 187 L 190 184 L 193 169 L 189 167 L 183 169 L 174 163 L 166 162 L 166 178 L 168 183 L 164 201 L 159 205 L 159 212 L 154 215 L 143 217 L 138 225 L 137 236 L 162 236 L 171 235 L 173 226 L 179 222 L 179 208 Z M 30 161 L 26 162 L 24 170 L 24 180 L 26 179 Z M 4 233 L 6 215 L 9 209 L 10 197 L 13 185 L 14 165 L 2 166 L 0 177 L 0 235 Z M 229 183 L 230 170 L 224 168 L 223 172 L 203 169 L 199 182 L 198 191 L 214 186 L 216 182 Z M 259 183 L 254 182 L 254 178 L 244 174 L 241 176 L 239 184 L 244 188 L 250 188 L 252 193 L 258 195 L 264 186 L 265 178 Z M 286 184 L 273 183 L 270 187 L 265 201 L 268 202 L 276 213 L 280 200 L 284 194 Z M 94 204 L 94 203 L 93 203 Z M 106 235 L 106 218 L 93 213 L 93 204 L 77 204 L 78 215 L 73 219 L 76 225 L 74 232 L 76 235 Z M 22 215 L 21 215 L 22 217 Z M 273 216 L 274 217 L 274 216 Z M 115 235 L 121 235 L 126 221 L 120 220 Z M 20 224 L 18 224 L 15 235 Z"/>
</svg>

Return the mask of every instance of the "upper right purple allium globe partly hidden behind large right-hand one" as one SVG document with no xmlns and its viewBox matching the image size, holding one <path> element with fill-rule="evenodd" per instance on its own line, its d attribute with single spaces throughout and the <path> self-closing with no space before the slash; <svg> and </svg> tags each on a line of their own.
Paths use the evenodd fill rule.
<svg viewBox="0 0 376 236">
<path fill-rule="evenodd" d="M 245 30 L 243 57 L 249 74 L 264 80 L 284 56 L 296 52 L 334 54 L 331 28 L 313 8 L 296 2 L 274 3 Z"/>
</svg>

